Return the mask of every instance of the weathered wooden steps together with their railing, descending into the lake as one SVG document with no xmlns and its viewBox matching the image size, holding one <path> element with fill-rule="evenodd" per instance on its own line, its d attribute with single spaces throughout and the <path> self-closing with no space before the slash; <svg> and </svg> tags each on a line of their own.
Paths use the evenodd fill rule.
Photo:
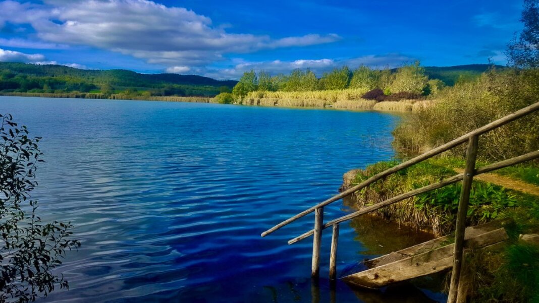
<svg viewBox="0 0 539 303">
<path fill-rule="evenodd" d="M 390 253 L 370 261 L 371 269 L 350 274 L 343 277 L 344 281 L 347 281 L 353 285 L 359 285 L 362 287 L 376 288 L 397 281 L 403 281 L 411 278 L 425 276 L 430 273 L 439 272 L 442 270 L 451 269 L 451 284 L 448 303 L 455 303 L 459 299 L 459 293 L 463 293 L 465 286 L 459 288 L 461 278 L 461 268 L 464 255 L 464 249 L 468 247 L 486 248 L 493 245 L 499 245 L 507 239 L 507 234 L 503 227 L 497 227 L 497 223 L 491 223 L 483 226 L 476 226 L 466 228 L 466 214 L 468 211 L 469 195 L 472 187 L 473 177 L 475 175 L 498 170 L 503 167 L 508 167 L 523 163 L 525 161 L 534 160 L 539 158 L 539 150 L 532 151 L 522 156 L 503 160 L 494 164 L 477 168 L 475 166 L 475 160 L 478 153 L 479 137 L 490 130 L 499 128 L 502 125 L 515 121 L 516 119 L 527 116 L 535 111 L 539 110 L 539 102 L 529 105 L 523 109 L 517 110 L 512 114 L 497 119 L 481 128 L 468 132 L 457 139 L 452 140 L 446 144 L 440 145 L 428 152 L 425 152 L 415 158 L 407 160 L 399 165 L 389 168 L 381 173 L 378 173 L 371 178 L 361 182 L 360 184 L 353 186 L 340 194 L 337 194 L 325 201 L 312 206 L 303 212 L 290 217 L 289 219 L 282 221 L 276 226 L 262 232 L 261 236 L 265 237 L 272 232 L 285 227 L 287 224 L 300 219 L 310 213 L 315 213 L 314 228 L 305 232 L 298 237 L 295 237 L 288 241 L 288 244 L 293 244 L 301 241 L 310 236 L 313 237 L 313 258 L 311 276 L 313 278 L 319 277 L 319 263 L 320 263 L 320 246 L 322 240 L 322 231 L 331 227 L 333 229 L 333 236 L 331 237 L 331 252 L 329 258 L 329 273 L 330 279 L 336 279 L 337 267 L 336 267 L 336 254 L 338 244 L 338 232 L 339 224 L 355 217 L 368 214 L 374 210 L 380 209 L 385 206 L 392 205 L 398 201 L 402 201 L 407 198 L 411 198 L 415 195 L 432 191 L 433 189 L 441 188 L 446 185 L 453 184 L 455 182 L 462 181 L 462 188 L 460 193 L 460 200 L 457 213 L 457 224 L 454 233 L 454 241 L 448 237 L 442 237 L 434 239 L 429 242 L 425 242 L 404 250 Z M 453 149 L 455 146 L 459 146 L 463 143 L 468 143 L 466 152 L 466 167 L 463 173 L 454 175 L 451 178 L 447 178 L 440 182 L 427 185 L 421 188 L 414 189 L 413 191 L 403 193 L 388 200 L 376 203 L 375 205 L 362 208 L 357 212 L 342 216 L 340 218 L 330 220 L 326 223 L 323 222 L 324 206 L 329 205 L 335 201 L 345 198 L 362 188 L 365 188 L 374 182 L 388 177 L 400 170 L 410 167 L 414 164 L 420 163 L 426 159 L 437 156 L 440 153 Z"/>
</svg>

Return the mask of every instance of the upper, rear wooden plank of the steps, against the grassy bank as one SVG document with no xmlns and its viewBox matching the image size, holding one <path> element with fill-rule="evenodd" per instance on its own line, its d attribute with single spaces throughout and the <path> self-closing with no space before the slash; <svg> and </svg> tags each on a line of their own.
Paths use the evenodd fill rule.
<svg viewBox="0 0 539 303">
<path fill-rule="evenodd" d="M 496 220 L 496 221 L 488 222 L 485 224 L 468 227 L 466 228 L 464 238 L 470 239 L 470 238 L 479 236 L 481 234 L 485 234 L 485 232 L 499 229 L 503 226 L 503 223 L 505 223 L 506 221 L 507 220 Z M 384 264 L 395 262 L 397 260 L 405 259 L 407 257 L 419 255 L 419 253 L 423 253 L 423 252 L 431 251 L 433 249 L 440 248 L 441 246 L 450 244 L 449 242 L 453 242 L 450 236 L 439 237 L 439 238 L 432 239 L 427 242 L 410 246 L 405 249 L 401 249 L 396 252 L 391 252 L 388 255 L 380 256 L 380 257 L 365 261 L 364 264 L 369 268 L 381 266 Z"/>
</svg>

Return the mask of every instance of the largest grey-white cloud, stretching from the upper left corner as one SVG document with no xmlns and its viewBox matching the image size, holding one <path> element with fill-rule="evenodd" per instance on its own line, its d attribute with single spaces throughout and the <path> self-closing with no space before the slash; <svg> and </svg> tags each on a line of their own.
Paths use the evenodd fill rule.
<svg viewBox="0 0 539 303">
<path fill-rule="evenodd" d="M 214 26 L 210 18 L 194 11 L 147 0 L 45 0 L 43 5 L 8 0 L 0 3 L 0 10 L 4 12 L 0 24 L 31 24 L 49 43 L 93 46 L 168 66 L 203 66 L 227 53 L 341 39 L 336 34 L 272 39 L 228 33 L 226 26 Z"/>
</svg>

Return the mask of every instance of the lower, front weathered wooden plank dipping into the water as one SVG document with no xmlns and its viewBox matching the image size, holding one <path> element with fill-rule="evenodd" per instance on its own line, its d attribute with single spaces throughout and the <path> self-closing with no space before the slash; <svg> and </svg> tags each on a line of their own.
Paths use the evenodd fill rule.
<svg viewBox="0 0 539 303">
<path fill-rule="evenodd" d="M 479 249 L 506 239 L 508 239 L 507 232 L 505 229 L 499 228 L 468 239 L 466 245 Z M 449 269 L 453 266 L 453 253 L 454 244 L 449 244 L 393 263 L 350 274 L 342 279 L 356 286 L 367 288 L 383 287 L 398 281 Z"/>
</svg>

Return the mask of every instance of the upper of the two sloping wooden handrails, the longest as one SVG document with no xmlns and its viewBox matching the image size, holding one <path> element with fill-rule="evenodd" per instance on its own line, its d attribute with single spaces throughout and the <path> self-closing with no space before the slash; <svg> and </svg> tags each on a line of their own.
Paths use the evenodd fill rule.
<svg viewBox="0 0 539 303">
<path fill-rule="evenodd" d="M 292 216 L 290 217 L 289 219 L 285 220 L 285 221 L 282 221 L 281 223 L 277 224 L 276 226 L 262 232 L 261 236 L 262 237 L 265 237 L 269 234 L 271 234 L 272 232 L 274 232 L 275 230 L 278 230 L 280 229 L 281 227 L 284 227 L 286 226 L 287 224 L 289 223 L 292 223 L 294 222 L 295 220 L 298 220 L 300 219 L 301 217 L 303 216 L 306 216 L 312 212 L 314 212 L 315 209 L 317 208 L 321 208 L 321 207 L 324 207 L 326 205 L 329 205 L 330 203 L 333 203 L 337 200 L 340 200 L 342 198 L 345 198 L 347 196 L 349 196 L 350 194 L 352 193 L 355 193 L 357 191 L 359 191 L 360 189 L 364 188 L 364 187 L 367 187 L 369 186 L 370 184 L 382 179 L 382 178 L 385 178 L 385 177 L 388 177 L 389 175 L 393 174 L 393 173 L 396 173 L 400 170 L 403 170 L 404 168 L 407 168 L 407 167 L 410 167 L 414 164 L 417 164 L 421 161 L 424 161 L 426 159 L 429 159 L 429 158 L 432 158 L 440 153 L 443 153 L 447 150 L 450 150 L 452 149 L 453 147 L 455 146 L 458 146 L 464 142 L 466 142 L 469 138 L 471 137 L 474 137 L 474 136 L 479 136 L 481 135 L 482 133 L 485 133 L 487 131 L 490 131 L 490 130 L 493 130 L 495 128 L 499 128 L 500 126 L 502 125 L 505 125 L 509 122 L 512 122 L 518 118 L 521 118 L 523 116 L 526 116 L 528 114 L 530 114 L 531 112 L 534 112 L 534 111 L 537 111 L 539 110 L 539 102 L 537 103 L 534 103 L 534 104 L 531 104 L 529 105 L 528 107 L 525 107 L 523 109 L 520 109 L 520 110 L 517 110 L 515 112 L 513 112 L 513 114 L 509 114 L 503 118 L 500 118 L 500 119 L 497 119 L 496 121 L 493 121 L 493 122 L 490 122 L 489 124 L 485 125 L 485 126 L 482 126 L 481 128 L 478 128 L 476 130 L 473 130 L 471 132 L 468 132 L 466 133 L 466 135 L 463 135 L 457 139 L 454 139 L 446 144 L 443 144 L 443 145 L 440 145 L 438 147 L 436 147 L 435 149 L 432 149 L 428 152 L 425 152 L 415 158 L 412 158 L 410 160 L 407 160 L 399 165 L 396 165 L 396 166 L 393 166 L 391 168 L 389 168 L 388 170 L 385 170 L 381 173 L 378 173 L 374 176 L 372 176 L 371 178 L 361 182 L 360 184 L 354 186 L 354 187 L 351 187 L 349 189 L 347 189 L 346 191 L 338 194 L 338 195 L 335 195 L 313 207 L 310 207 L 306 210 L 303 210 L 303 212 L 295 215 L 295 216 Z M 455 181 L 456 182 L 456 181 Z M 296 241 L 297 242 L 297 241 Z"/>
</svg>

